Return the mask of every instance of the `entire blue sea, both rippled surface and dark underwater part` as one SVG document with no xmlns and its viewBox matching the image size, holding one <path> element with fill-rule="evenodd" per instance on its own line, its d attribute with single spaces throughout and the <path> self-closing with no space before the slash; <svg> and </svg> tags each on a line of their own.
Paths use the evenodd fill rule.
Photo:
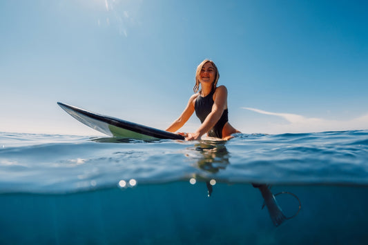
<svg viewBox="0 0 368 245">
<path fill-rule="evenodd" d="M 260 185 L 291 219 L 273 224 Z M 0 244 L 367 244 L 367 207 L 368 130 L 0 133 Z"/>
</svg>

